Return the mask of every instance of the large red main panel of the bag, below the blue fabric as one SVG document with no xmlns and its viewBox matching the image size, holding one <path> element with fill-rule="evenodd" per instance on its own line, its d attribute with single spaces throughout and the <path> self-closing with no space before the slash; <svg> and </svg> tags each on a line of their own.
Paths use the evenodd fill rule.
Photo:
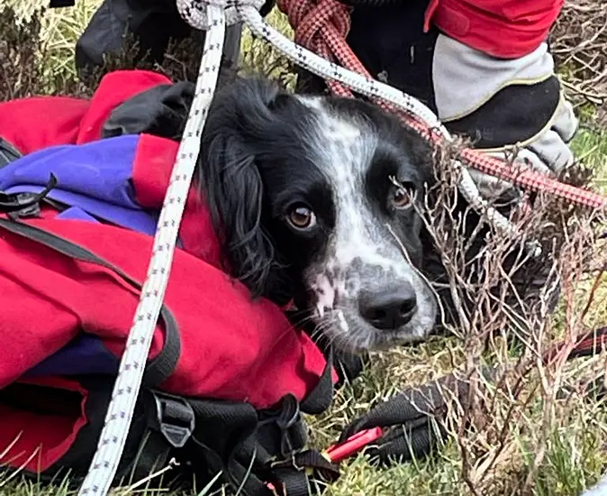
<svg viewBox="0 0 607 496">
<path fill-rule="evenodd" d="M 28 223 L 145 279 L 149 236 L 82 221 Z M 80 329 L 100 335 L 113 353 L 122 354 L 139 294 L 113 271 L 11 233 L 0 238 L 0 260 L 0 294 L 11 299 L 0 312 L 0 388 L 68 344 Z M 266 408 L 287 392 L 303 398 L 318 381 L 325 363 L 320 350 L 291 328 L 280 308 L 264 299 L 251 301 L 242 285 L 181 250 L 175 253 L 165 304 L 177 317 L 182 350 L 164 389 Z M 162 341 L 157 329 L 153 354 Z"/>
</svg>

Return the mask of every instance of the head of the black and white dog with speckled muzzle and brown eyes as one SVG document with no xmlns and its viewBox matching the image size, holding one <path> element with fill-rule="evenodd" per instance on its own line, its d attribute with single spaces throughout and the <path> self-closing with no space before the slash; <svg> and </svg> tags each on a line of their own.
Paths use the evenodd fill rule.
<svg viewBox="0 0 607 496">
<path fill-rule="evenodd" d="M 239 79 L 213 101 L 198 180 L 231 275 L 360 351 L 434 325 L 416 209 L 430 172 L 430 147 L 376 106 Z"/>
</svg>

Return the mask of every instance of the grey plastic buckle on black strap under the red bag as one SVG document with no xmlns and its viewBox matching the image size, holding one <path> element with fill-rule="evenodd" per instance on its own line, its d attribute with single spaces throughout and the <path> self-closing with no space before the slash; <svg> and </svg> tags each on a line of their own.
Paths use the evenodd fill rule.
<svg viewBox="0 0 607 496">
<path fill-rule="evenodd" d="M 186 445 L 195 427 L 192 405 L 183 398 L 159 391 L 152 392 L 156 401 L 156 415 L 160 432 L 174 448 Z"/>
</svg>

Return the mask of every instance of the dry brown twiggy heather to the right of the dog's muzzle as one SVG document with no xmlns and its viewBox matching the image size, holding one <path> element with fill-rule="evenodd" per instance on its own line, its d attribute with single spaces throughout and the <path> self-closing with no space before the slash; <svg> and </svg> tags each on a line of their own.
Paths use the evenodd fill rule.
<svg viewBox="0 0 607 496">
<path fill-rule="evenodd" d="M 604 354 L 584 365 L 567 362 L 575 345 L 602 323 L 592 315 L 606 303 L 600 288 L 607 258 L 597 239 L 602 214 L 540 196 L 532 209 L 512 218 L 519 234 L 496 233 L 485 222 L 487 231 L 475 227 L 463 236 L 474 214 L 458 210 L 457 180 L 458 173 L 443 164 L 425 208 L 448 274 L 443 289 L 455 309 L 449 327 L 461 343 L 456 369 L 477 379 L 487 365 L 497 372 L 488 383 L 471 382 L 447 427 L 467 491 L 530 494 L 554 433 L 587 407 L 590 384 L 604 381 Z M 536 260 L 532 241 L 542 249 Z M 581 291 L 584 286 L 589 290 Z M 553 315 L 556 293 L 559 311 Z M 522 439 L 533 446 L 527 460 L 518 445 Z M 496 476 L 504 463 L 518 468 L 509 482 Z"/>
</svg>

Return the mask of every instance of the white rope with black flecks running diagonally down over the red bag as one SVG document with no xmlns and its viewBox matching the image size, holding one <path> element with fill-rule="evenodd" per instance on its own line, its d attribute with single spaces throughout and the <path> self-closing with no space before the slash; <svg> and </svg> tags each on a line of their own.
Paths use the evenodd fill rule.
<svg viewBox="0 0 607 496">
<path fill-rule="evenodd" d="M 112 398 L 105 415 L 104 427 L 99 436 L 93 461 L 78 491 L 79 496 L 107 494 L 122 458 L 126 437 L 131 427 L 144 364 L 148 361 L 149 346 L 167 289 L 179 224 L 200 151 L 201 134 L 222 61 L 226 26 L 223 6 L 209 4 L 205 7 L 205 14 L 204 22 L 208 32 L 204 40 L 194 102 L 187 118 L 183 139 L 177 151 L 177 160 L 160 212 L 148 274 L 126 340 Z"/>
</svg>

